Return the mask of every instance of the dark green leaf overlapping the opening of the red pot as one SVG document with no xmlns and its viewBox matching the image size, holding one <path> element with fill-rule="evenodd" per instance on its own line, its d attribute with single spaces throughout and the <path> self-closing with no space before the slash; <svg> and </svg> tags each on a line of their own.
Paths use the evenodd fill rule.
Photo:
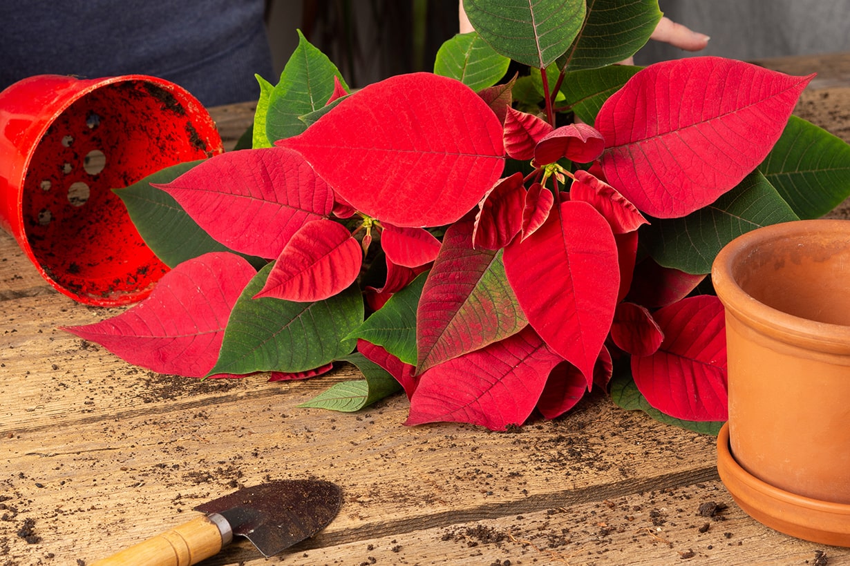
<svg viewBox="0 0 850 566">
<path fill-rule="evenodd" d="M 171 165 L 129 187 L 113 189 L 127 207 L 130 220 L 139 230 L 144 243 L 169 267 L 207 252 L 231 251 L 210 238 L 170 194 L 150 186 L 152 182 L 172 182 L 203 161 L 186 161 Z M 257 258 L 246 259 L 251 261 L 253 266 L 265 263 Z"/>
</svg>

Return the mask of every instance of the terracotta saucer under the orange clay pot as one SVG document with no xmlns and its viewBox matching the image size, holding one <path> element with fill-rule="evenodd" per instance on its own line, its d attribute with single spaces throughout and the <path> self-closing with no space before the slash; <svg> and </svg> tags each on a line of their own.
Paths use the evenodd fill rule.
<svg viewBox="0 0 850 566">
<path fill-rule="evenodd" d="M 785 535 L 850 546 L 850 505 L 779 490 L 741 468 L 729 450 L 729 424 L 717 435 L 717 472 L 734 501 L 752 518 Z"/>
</svg>

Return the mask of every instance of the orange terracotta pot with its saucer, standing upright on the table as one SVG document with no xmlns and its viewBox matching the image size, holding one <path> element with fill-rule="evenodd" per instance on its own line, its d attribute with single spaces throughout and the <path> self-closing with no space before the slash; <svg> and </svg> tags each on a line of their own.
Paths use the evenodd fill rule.
<svg viewBox="0 0 850 566">
<path fill-rule="evenodd" d="M 794 221 L 728 244 L 729 417 L 718 471 L 747 513 L 850 546 L 850 221 Z"/>
</svg>

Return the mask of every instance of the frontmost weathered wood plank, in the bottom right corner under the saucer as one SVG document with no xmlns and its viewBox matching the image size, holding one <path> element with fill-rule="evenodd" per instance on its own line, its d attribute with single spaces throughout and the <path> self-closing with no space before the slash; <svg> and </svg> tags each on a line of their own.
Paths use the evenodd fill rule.
<svg viewBox="0 0 850 566">
<path fill-rule="evenodd" d="M 713 515 L 712 503 L 721 507 Z M 779 566 L 821 557 L 821 564 L 850 564 L 848 549 L 792 539 L 753 521 L 717 480 L 299 551 L 285 562 Z M 255 563 L 249 546 L 232 552 L 231 560 Z"/>
</svg>

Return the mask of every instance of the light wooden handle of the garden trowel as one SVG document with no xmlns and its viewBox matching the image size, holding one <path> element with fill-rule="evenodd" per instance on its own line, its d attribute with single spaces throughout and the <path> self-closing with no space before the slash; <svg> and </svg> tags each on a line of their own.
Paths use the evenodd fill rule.
<svg viewBox="0 0 850 566">
<path fill-rule="evenodd" d="M 222 534 L 218 526 L 201 516 L 109 558 L 102 558 L 92 566 L 189 566 L 218 554 L 221 547 Z"/>
</svg>

